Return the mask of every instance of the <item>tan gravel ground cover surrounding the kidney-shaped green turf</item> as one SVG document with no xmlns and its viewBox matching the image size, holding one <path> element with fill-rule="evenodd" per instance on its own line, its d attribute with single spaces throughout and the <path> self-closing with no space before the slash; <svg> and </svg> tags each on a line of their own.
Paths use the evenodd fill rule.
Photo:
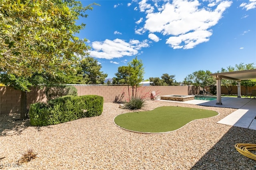
<svg viewBox="0 0 256 170">
<path fill-rule="evenodd" d="M 236 143 L 256 143 L 256 130 L 216 123 L 236 109 L 165 101 L 146 101 L 138 111 L 160 106 L 217 111 L 216 117 L 192 121 L 167 134 L 139 134 L 114 125 L 116 115 L 131 112 L 117 103 L 104 103 L 102 115 L 32 127 L 0 115 L 0 169 L 22 170 L 254 170 L 256 161 L 240 154 Z M 22 165 L 28 149 L 37 158 Z"/>
</svg>

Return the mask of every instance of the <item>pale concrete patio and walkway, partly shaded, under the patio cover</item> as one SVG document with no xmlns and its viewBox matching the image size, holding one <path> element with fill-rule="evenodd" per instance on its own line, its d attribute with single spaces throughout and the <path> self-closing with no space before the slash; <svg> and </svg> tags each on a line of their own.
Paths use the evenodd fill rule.
<svg viewBox="0 0 256 170">
<path fill-rule="evenodd" d="M 182 103 L 238 109 L 217 123 L 256 130 L 256 99 L 222 97 L 221 102 L 222 105 L 216 105 L 216 100 L 190 100 Z"/>
</svg>

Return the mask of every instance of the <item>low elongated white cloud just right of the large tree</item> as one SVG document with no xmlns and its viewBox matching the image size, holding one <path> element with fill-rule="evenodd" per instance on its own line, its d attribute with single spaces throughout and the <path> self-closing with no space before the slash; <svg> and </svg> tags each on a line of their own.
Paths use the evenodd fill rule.
<svg viewBox="0 0 256 170">
<path fill-rule="evenodd" d="M 138 50 L 143 47 L 149 47 L 148 41 L 144 40 L 140 42 L 139 40 L 130 40 L 125 42 L 124 40 L 106 39 L 103 42 L 92 42 L 92 49 L 89 50 L 90 55 L 96 58 L 113 59 L 120 58 L 123 56 L 132 56 L 138 54 Z"/>
</svg>

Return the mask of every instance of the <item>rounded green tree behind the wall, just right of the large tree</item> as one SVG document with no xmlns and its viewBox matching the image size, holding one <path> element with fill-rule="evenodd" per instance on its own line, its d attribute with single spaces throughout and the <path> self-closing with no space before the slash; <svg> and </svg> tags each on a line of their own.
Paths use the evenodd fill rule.
<svg viewBox="0 0 256 170">
<path fill-rule="evenodd" d="M 74 84 L 91 84 L 98 85 L 104 84 L 108 74 L 104 74 L 100 69 L 102 66 L 98 64 L 98 60 L 93 57 L 85 57 L 76 67 L 76 81 Z"/>
</svg>

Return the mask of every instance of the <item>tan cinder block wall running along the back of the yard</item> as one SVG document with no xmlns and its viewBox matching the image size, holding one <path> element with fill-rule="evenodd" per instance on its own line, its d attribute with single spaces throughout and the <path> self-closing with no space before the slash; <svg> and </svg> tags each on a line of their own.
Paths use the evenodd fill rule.
<svg viewBox="0 0 256 170">
<path fill-rule="evenodd" d="M 132 95 L 132 88 L 128 86 L 82 86 L 74 85 L 78 90 L 78 95 L 100 95 L 104 97 L 104 102 L 120 102 L 128 101 L 129 92 Z M 156 91 L 158 95 L 190 95 L 192 87 L 188 86 L 142 86 L 137 89 L 138 94 L 150 99 L 152 91 Z M 44 95 L 45 89 L 36 87 L 31 88 L 27 93 L 28 108 L 31 103 L 46 102 Z M 135 93 L 135 89 L 134 89 Z M 12 87 L 0 87 L 0 114 L 14 113 L 20 110 L 20 91 Z"/>
</svg>

